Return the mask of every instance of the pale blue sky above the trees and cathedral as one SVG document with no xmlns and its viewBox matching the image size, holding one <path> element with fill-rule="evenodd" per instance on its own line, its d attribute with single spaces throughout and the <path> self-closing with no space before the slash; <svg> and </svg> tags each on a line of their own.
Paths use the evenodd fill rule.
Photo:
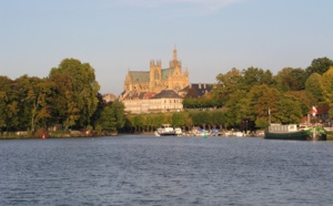
<svg viewBox="0 0 333 206">
<path fill-rule="evenodd" d="M 190 83 L 250 66 L 307 68 L 333 59 L 332 0 L 0 0 L 0 75 L 47 78 L 67 58 L 90 63 L 100 93 L 128 71 L 169 66 Z"/>
</svg>

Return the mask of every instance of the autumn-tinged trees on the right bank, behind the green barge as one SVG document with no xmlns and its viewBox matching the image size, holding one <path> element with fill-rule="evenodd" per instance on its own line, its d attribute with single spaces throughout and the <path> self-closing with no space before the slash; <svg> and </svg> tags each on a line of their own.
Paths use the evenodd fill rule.
<svg viewBox="0 0 333 206">
<path fill-rule="evenodd" d="M 184 99 L 184 107 L 222 107 L 223 124 L 231 127 L 245 122 L 264 128 L 269 113 L 273 123 L 300 123 L 312 106 L 330 106 L 333 116 L 333 61 L 327 58 L 313 60 L 305 70 L 285 68 L 276 75 L 259 68 L 232 69 L 219 74 L 216 82 L 209 95 Z"/>
</svg>

